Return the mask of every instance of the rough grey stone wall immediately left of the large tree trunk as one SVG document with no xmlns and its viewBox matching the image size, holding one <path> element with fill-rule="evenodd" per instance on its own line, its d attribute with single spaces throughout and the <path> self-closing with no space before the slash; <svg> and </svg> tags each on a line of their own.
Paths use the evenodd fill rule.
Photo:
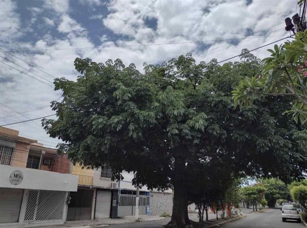
<svg viewBox="0 0 307 228">
<path fill-rule="evenodd" d="M 150 215 L 160 216 L 163 212 L 171 215 L 172 194 L 163 192 L 150 192 Z"/>
</svg>

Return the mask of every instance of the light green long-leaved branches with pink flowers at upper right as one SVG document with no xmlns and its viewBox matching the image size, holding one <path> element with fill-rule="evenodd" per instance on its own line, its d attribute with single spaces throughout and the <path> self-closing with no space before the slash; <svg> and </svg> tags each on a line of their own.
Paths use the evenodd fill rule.
<svg viewBox="0 0 307 228">
<path fill-rule="evenodd" d="M 292 107 L 285 113 L 296 123 L 307 123 L 307 30 L 268 51 L 271 57 L 262 60 L 261 74 L 249 75 L 232 91 L 234 106 L 247 109 L 264 96 L 290 96 Z"/>
</svg>

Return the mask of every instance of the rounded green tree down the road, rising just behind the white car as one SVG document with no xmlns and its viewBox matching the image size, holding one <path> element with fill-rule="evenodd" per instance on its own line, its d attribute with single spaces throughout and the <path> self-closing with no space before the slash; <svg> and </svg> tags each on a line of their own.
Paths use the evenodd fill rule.
<svg viewBox="0 0 307 228">
<path fill-rule="evenodd" d="M 262 179 L 261 183 L 266 188 L 265 199 L 270 208 L 275 207 L 277 199 L 286 199 L 289 194 L 287 186 L 277 178 Z"/>
</svg>

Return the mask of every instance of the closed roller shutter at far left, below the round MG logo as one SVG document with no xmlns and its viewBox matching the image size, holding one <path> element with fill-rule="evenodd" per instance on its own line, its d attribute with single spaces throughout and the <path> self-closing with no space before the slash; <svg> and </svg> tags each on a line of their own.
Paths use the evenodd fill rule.
<svg viewBox="0 0 307 228">
<path fill-rule="evenodd" d="M 16 223 L 23 196 L 23 189 L 0 188 L 0 224 Z"/>
</svg>

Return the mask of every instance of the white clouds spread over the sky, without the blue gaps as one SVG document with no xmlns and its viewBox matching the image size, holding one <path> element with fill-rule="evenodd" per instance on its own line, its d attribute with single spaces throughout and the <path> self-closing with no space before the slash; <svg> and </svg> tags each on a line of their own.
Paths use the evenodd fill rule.
<svg viewBox="0 0 307 228">
<path fill-rule="evenodd" d="M 66 77 L 69 80 L 75 80 L 77 76 L 73 66 L 75 57 L 89 57 L 97 62 L 104 62 L 108 58 L 120 58 L 125 65 L 131 62 L 135 63 L 139 70 L 142 70 L 143 62 L 160 63 L 187 52 L 191 52 L 196 61 L 209 61 L 212 58 L 222 60 L 239 54 L 242 48 L 253 49 L 281 38 L 265 36 L 285 34 L 283 24 L 272 26 L 282 23 L 284 17 L 294 14 L 291 10 L 295 9 L 296 1 L 278 1 L 278 4 L 276 4 L 276 1 L 253 0 L 249 5 L 244 2 L 232 0 L 222 2 L 160 0 L 134 1 L 134 3 L 131 1 L 110 1 L 107 4 L 108 14 L 102 17 L 99 14 L 100 12 L 95 11 L 94 14 L 88 13 L 88 18 L 101 19 L 101 23 L 108 29 L 118 35 L 123 35 L 123 37 L 128 36 L 128 39 L 121 36 L 118 40 L 114 40 L 114 37 L 109 34 L 99 35 L 102 48 L 94 48 L 95 45 L 87 36 L 86 24 L 83 23 L 83 26 L 81 26 L 69 14 L 68 0 L 45 0 L 43 5 L 43 10 L 51 9 L 52 12 L 55 12 L 53 13 L 54 17 L 45 17 L 43 21 L 51 26 L 56 24 L 57 30 L 63 37 L 56 38 L 52 36 L 54 34 L 46 33 L 42 39 L 34 40 L 35 37 L 33 37 L 34 43 L 23 42 L 18 39 L 26 27 L 20 27 L 19 15 L 15 12 L 15 3 L 5 0 L 5 6 L 0 5 L 0 36 L 1 40 L 5 38 L 6 42 L 18 40 L 18 42 L 11 42 L 6 45 L 6 49 L 41 49 L 42 51 L 39 53 L 17 52 L 15 54 L 55 77 Z M 263 7 L 264 2 L 265 7 Z M 100 1 L 95 0 L 83 3 L 84 7 L 86 7 L 85 3 L 88 3 L 91 7 L 101 4 Z M 32 8 L 32 10 L 39 12 L 38 9 Z M 156 29 L 147 24 L 147 20 L 153 18 L 157 22 Z M 268 30 L 267 28 L 269 27 L 271 28 Z M 264 34 L 265 36 L 242 38 L 246 28 L 257 31 L 255 35 Z M 272 32 L 276 29 L 280 30 Z M 206 42 L 211 44 L 207 49 L 199 48 L 199 43 L 190 42 L 225 38 L 242 39 L 239 39 L 240 42 L 236 45 L 231 44 L 229 41 Z M 180 42 L 186 43 L 159 45 Z M 140 45 L 148 43 L 156 45 Z M 121 47 L 114 47 L 118 45 Z M 74 49 L 80 47 L 92 48 Z M 268 54 L 267 48 L 259 49 L 253 53 L 260 58 L 265 57 Z M 7 57 L 40 76 L 53 80 L 49 75 L 30 67 L 24 62 L 9 55 Z M 35 75 L 33 76 L 35 77 Z M 61 99 L 60 92 L 55 92 L 52 88 L 1 63 L 0 83 L 0 102 L 19 112 L 43 107 L 48 105 L 51 100 Z M 8 113 L 15 114 L 4 107 L 0 106 L 0 108 L 0 116 L 2 117 L 8 115 Z M 35 118 L 52 113 L 50 108 L 45 108 L 25 115 L 29 118 Z M 17 117 L 25 119 L 22 116 Z M 16 121 L 18 120 L 14 117 L 0 118 L 1 124 Z M 39 124 L 39 121 L 36 122 Z M 9 127 L 19 130 L 21 135 L 41 139 L 51 145 L 56 142 L 56 140 L 48 138 L 44 131 L 39 129 L 36 124 L 32 124 L 32 122 Z"/>
</svg>

